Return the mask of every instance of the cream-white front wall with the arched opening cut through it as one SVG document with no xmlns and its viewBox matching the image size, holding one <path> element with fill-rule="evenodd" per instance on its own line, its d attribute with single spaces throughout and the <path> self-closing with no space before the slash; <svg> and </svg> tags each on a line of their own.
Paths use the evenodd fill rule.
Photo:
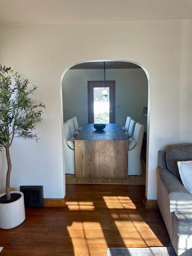
<svg viewBox="0 0 192 256">
<path fill-rule="evenodd" d="M 46 105 L 39 143 L 13 141 L 11 186 L 44 185 L 44 197 L 64 197 L 62 74 L 78 62 L 127 60 L 143 65 L 150 78 L 146 197 L 156 199 L 158 150 L 192 142 L 192 21 L 1 26 L 0 35 L 1 64 L 38 86 L 35 99 Z"/>
</svg>

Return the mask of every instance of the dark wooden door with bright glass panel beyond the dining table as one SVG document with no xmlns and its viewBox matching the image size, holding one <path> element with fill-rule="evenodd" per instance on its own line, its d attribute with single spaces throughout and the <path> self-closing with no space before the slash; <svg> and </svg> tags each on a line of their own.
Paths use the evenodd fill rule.
<svg viewBox="0 0 192 256">
<path fill-rule="evenodd" d="M 115 123 L 115 81 L 106 81 L 107 97 L 103 89 L 104 81 L 88 81 L 88 123 Z"/>
</svg>

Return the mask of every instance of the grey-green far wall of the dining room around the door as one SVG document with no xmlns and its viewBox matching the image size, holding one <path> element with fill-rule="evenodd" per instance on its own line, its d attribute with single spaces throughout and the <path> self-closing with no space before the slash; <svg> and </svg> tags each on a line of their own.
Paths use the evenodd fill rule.
<svg viewBox="0 0 192 256">
<path fill-rule="evenodd" d="M 77 116 L 79 125 L 88 123 L 87 81 L 103 80 L 103 70 L 68 70 L 62 82 L 63 121 Z M 145 126 L 147 117 L 143 116 L 143 107 L 148 105 L 148 80 L 142 68 L 107 69 L 106 80 L 116 82 L 116 123 L 125 125 L 126 117 Z M 120 108 L 117 108 L 120 105 Z"/>
</svg>

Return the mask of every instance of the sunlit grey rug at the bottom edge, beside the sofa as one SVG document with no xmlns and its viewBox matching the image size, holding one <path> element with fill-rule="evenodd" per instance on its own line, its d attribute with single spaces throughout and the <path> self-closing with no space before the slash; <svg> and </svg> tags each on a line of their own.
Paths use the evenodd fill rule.
<svg viewBox="0 0 192 256">
<path fill-rule="evenodd" d="M 107 256 L 177 256 L 173 247 L 107 248 Z"/>
</svg>

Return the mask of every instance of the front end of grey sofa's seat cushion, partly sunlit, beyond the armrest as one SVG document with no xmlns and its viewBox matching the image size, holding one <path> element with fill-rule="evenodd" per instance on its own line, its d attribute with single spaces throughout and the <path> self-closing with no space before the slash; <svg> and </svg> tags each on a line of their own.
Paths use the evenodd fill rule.
<svg viewBox="0 0 192 256">
<path fill-rule="evenodd" d="M 192 212 L 176 211 L 173 218 L 173 229 L 180 237 L 192 236 Z"/>
</svg>

